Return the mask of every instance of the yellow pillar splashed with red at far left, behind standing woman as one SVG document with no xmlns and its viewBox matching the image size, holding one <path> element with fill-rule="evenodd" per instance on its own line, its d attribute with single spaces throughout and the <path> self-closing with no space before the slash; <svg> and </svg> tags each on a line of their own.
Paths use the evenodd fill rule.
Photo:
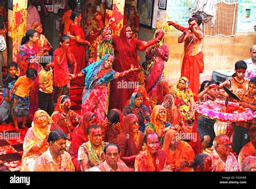
<svg viewBox="0 0 256 189">
<path fill-rule="evenodd" d="M 27 1 L 13 0 L 12 10 L 8 10 L 8 36 L 12 40 L 12 61 L 17 62 L 19 46 L 26 34 Z"/>
</svg>

